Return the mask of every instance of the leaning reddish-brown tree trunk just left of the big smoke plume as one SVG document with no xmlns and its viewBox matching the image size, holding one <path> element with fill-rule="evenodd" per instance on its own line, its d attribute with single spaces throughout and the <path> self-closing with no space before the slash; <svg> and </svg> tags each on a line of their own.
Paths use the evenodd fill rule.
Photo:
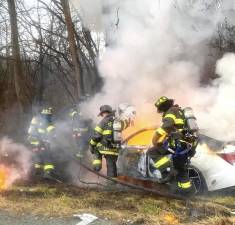
<svg viewBox="0 0 235 225">
<path fill-rule="evenodd" d="M 79 64 L 79 55 L 75 41 L 75 32 L 71 18 L 69 2 L 68 0 L 60 0 L 60 2 L 63 8 L 65 23 L 68 31 L 69 48 L 72 56 L 72 63 L 74 66 L 76 86 L 77 86 L 77 98 L 79 99 L 83 90 L 82 90 L 82 79 L 81 79 L 80 64 Z"/>
</svg>

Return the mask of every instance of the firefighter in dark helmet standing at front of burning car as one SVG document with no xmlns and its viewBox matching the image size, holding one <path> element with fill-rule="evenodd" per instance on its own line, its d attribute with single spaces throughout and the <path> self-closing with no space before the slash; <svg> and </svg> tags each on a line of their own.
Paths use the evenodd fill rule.
<svg viewBox="0 0 235 225">
<path fill-rule="evenodd" d="M 115 113 L 109 105 L 101 106 L 98 116 L 101 116 L 102 120 L 94 128 L 90 139 L 90 150 L 94 155 L 93 167 L 94 170 L 100 171 L 102 156 L 104 156 L 107 165 L 107 176 L 115 178 L 117 177 L 116 162 L 121 147 L 120 134 L 123 129 L 129 126 L 129 121 L 117 121 Z"/>
</svg>

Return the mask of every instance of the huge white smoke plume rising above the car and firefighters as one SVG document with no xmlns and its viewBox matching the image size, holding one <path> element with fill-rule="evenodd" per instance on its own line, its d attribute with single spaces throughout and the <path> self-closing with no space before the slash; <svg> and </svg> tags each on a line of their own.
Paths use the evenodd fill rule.
<svg viewBox="0 0 235 225">
<path fill-rule="evenodd" d="M 231 0 L 72 0 L 84 24 L 103 31 L 109 45 L 99 62 L 104 87 L 87 107 L 136 105 L 137 113 L 159 123 L 153 102 L 166 95 L 195 109 L 199 126 L 213 137 L 235 139 L 233 54 L 217 63 L 221 78 L 201 87 L 208 41 L 226 17 L 235 25 Z M 151 116 L 151 117 L 150 117 Z"/>
</svg>

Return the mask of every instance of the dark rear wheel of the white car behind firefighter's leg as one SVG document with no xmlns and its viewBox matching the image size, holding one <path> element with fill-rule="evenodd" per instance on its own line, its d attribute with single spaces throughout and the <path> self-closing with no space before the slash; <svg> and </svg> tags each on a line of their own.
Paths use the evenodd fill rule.
<svg viewBox="0 0 235 225">
<path fill-rule="evenodd" d="M 194 187 L 196 188 L 197 194 L 205 194 L 208 191 L 208 188 L 205 178 L 200 170 L 190 165 L 188 168 L 188 174 L 194 184 Z"/>
</svg>

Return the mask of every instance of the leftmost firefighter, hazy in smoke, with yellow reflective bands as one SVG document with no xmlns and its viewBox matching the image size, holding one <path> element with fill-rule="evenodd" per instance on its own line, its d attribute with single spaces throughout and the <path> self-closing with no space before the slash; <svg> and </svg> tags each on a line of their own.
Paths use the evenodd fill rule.
<svg viewBox="0 0 235 225">
<path fill-rule="evenodd" d="M 32 118 L 28 130 L 28 141 L 35 153 L 35 172 L 45 178 L 50 177 L 54 171 L 54 164 L 50 152 L 50 141 L 55 134 L 52 117 L 52 108 L 44 108 L 40 115 Z"/>
</svg>

